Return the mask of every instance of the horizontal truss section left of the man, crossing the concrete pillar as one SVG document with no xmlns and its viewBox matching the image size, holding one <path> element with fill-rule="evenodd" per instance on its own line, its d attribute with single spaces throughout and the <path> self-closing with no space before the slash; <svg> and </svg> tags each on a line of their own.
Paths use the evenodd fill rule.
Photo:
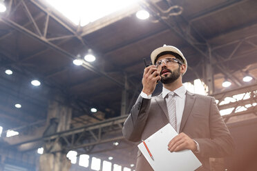
<svg viewBox="0 0 257 171">
<path fill-rule="evenodd" d="M 127 117 L 128 115 L 124 115 L 122 117 L 107 119 L 105 121 L 88 124 L 79 128 L 73 128 L 63 132 L 56 132 L 55 134 L 46 135 L 41 138 L 31 139 L 28 141 L 23 141 L 21 143 L 15 143 L 13 145 L 8 145 L 8 147 L 19 147 L 19 145 L 37 141 L 44 141 L 45 143 L 61 142 L 61 151 L 84 149 L 88 153 L 91 152 L 91 150 L 93 150 L 95 145 L 108 143 L 112 141 L 120 141 L 124 139 L 124 137 L 121 134 L 121 130 L 122 124 L 124 123 Z M 20 133 L 22 134 L 22 132 Z"/>
</svg>

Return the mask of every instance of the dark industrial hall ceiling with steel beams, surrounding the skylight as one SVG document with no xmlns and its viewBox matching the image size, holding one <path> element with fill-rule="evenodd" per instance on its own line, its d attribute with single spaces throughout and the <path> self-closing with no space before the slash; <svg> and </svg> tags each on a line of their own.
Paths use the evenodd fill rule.
<svg viewBox="0 0 257 171">
<path fill-rule="evenodd" d="M 0 125 L 6 129 L 46 121 L 49 100 L 56 96 L 73 109 L 73 128 L 128 114 L 142 89 L 142 59 L 150 63 L 151 51 L 164 44 L 178 47 L 187 58 L 184 82 L 207 83 L 211 73 L 212 94 L 256 83 L 254 0 L 144 0 L 133 10 L 84 27 L 44 1 L 5 3 L 8 10 L 0 16 Z M 149 19 L 135 17 L 140 8 L 149 11 Z M 75 66 L 73 59 L 88 50 L 96 60 Z M 6 74 L 7 69 L 13 74 Z M 243 82 L 245 73 L 253 81 Z M 41 86 L 32 86 L 32 79 Z M 231 87 L 222 88 L 225 79 Z"/>
</svg>

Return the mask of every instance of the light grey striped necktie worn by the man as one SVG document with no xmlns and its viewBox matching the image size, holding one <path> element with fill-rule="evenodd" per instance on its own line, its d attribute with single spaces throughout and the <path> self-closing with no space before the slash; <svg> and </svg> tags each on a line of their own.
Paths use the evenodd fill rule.
<svg viewBox="0 0 257 171">
<path fill-rule="evenodd" d="M 168 97 L 166 98 L 166 105 L 168 108 L 168 118 L 169 118 L 169 123 L 171 123 L 171 126 L 177 130 L 177 121 L 175 117 L 175 93 L 174 92 L 169 92 Z"/>
</svg>

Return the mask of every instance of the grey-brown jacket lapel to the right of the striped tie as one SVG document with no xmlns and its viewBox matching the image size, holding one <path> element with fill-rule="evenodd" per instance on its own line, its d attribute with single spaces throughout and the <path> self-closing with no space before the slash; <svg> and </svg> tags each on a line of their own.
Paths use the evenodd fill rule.
<svg viewBox="0 0 257 171">
<path fill-rule="evenodd" d="M 187 122 L 187 119 L 189 117 L 189 114 L 192 111 L 193 108 L 193 104 L 196 101 L 196 96 L 194 94 L 192 94 L 191 92 L 186 93 L 186 101 L 184 103 L 184 111 L 183 111 L 183 115 L 182 115 L 182 120 L 181 120 L 181 124 L 180 124 L 180 132 L 182 132 L 184 125 Z"/>
</svg>

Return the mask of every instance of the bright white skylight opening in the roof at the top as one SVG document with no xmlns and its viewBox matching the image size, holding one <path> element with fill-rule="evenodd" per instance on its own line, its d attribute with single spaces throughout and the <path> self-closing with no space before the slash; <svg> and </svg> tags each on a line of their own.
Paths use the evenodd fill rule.
<svg viewBox="0 0 257 171">
<path fill-rule="evenodd" d="M 64 14 L 75 25 L 86 26 L 86 24 L 101 19 L 108 14 L 124 10 L 135 4 L 138 0 L 44 0 L 57 11 Z"/>
</svg>

